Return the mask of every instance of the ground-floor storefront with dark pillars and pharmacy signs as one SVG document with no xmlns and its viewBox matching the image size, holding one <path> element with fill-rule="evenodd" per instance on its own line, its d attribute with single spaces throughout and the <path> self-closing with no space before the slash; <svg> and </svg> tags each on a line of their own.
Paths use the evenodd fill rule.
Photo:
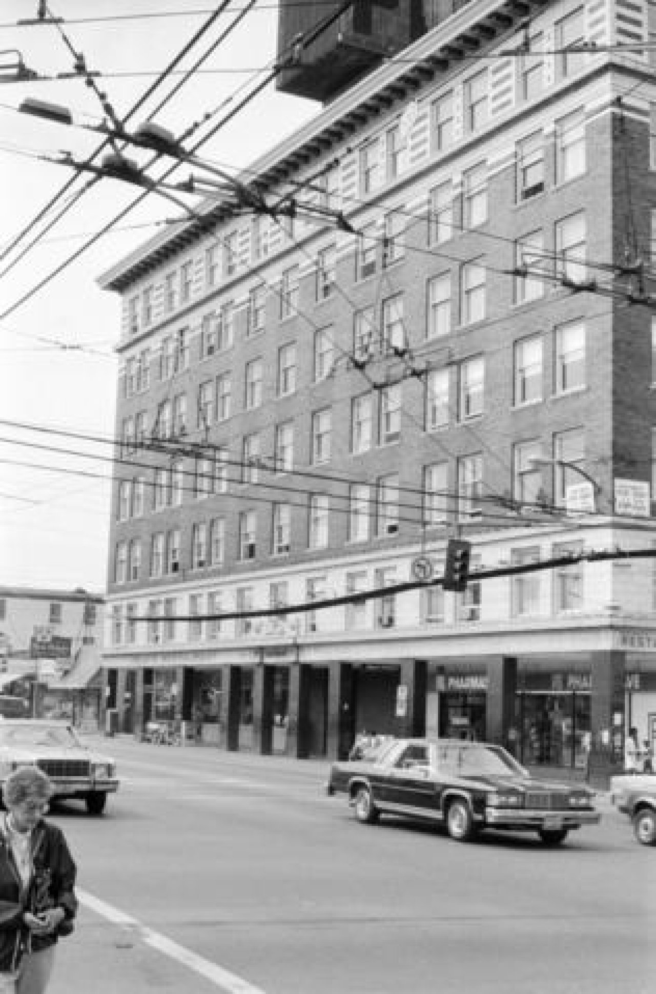
<svg viewBox="0 0 656 994">
<path fill-rule="evenodd" d="M 508 638 L 480 639 L 473 653 L 460 637 L 424 641 L 421 657 L 397 640 L 348 654 L 293 645 L 232 659 L 105 658 L 104 724 L 142 737 L 158 723 L 185 745 L 298 758 L 343 758 L 362 733 L 442 736 L 500 743 L 547 774 L 617 769 L 631 726 L 656 740 L 656 636 L 611 632 L 611 647 L 595 649 L 561 635 L 516 655 L 490 651 Z"/>
</svg>

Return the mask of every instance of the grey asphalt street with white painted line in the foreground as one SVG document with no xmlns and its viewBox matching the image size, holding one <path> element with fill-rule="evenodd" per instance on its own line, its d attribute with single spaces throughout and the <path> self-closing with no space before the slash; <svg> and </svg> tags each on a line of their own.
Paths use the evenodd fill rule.
<svg viewBox="0 0 656 994">
<path fill-rule="evenodd" d="M 80 868 L 49 994 L 652 994 L 656 849 L 598 827 L 458 844 L 355 821 L 327 764 L 98 739 L 106 814 L 52 817 Z"/>
</svg>

